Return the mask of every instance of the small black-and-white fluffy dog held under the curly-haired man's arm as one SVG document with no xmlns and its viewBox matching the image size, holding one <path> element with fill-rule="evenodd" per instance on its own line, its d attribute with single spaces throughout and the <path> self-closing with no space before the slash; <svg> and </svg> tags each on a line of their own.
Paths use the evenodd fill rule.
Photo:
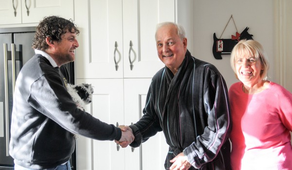
<svg viewBox="0 0 292 170">
<path fill-rule="evenodd" d="M 76 103 L 77 108 L 84 110 L 84 106 L 92 102 L 93 86 L 91 84 L 70 85 L 67 84 L 67 91 L 72 96 L 73 101 Z M 78 135 L 73 134 L 77 139 Z"/>
</svg>

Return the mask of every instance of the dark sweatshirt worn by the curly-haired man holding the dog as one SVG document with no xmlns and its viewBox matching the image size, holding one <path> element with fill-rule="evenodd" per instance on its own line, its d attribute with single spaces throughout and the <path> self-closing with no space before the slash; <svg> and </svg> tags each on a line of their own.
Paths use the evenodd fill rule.
<svg viewBox="0 0 292 170">
<path fill-rule="evenodd" d="M 75 146 L 73 134 L 97 140 L 119 140 L 121 130 L 77 108 L 66 89 L 65 66 L 53 67 L 41 54 L 20 70 L 14 92 L 10 155 L 29 169 L 67 162 Z"/>
</svg>

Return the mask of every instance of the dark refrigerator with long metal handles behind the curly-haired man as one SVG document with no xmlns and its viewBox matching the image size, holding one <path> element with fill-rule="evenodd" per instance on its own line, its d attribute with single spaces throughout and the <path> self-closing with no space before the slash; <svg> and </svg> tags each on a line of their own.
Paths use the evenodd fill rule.
<svg viewBox="0 0 292 170">
<path fill-rule="evenodd" d="M 14 170 L 9 155 L 13 88 L 19 70 L 35 54 L 32 49 L 35 32 L 36 27 L 0 28 L 0 170 Z M 66 65 L 71 84 L 74 84 L 73 66 L 73 63 Z M 70 161 L 75 169 L 75 152 Z"/>
</svg>

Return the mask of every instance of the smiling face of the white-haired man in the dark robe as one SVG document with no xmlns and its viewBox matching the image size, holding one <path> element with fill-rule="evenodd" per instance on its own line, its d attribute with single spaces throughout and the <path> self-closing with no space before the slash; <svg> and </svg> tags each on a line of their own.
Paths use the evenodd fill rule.
<svg viewBox="0 0 292 170">
<path fill-rule="evenodd" d="M 156 47 L 159 59 L 176 74 L 183 63 L 186 53 L 187 40 L 178 35 L 175 25 L 167 24 L 160 27 L 156 32 Z"/>
</svg>

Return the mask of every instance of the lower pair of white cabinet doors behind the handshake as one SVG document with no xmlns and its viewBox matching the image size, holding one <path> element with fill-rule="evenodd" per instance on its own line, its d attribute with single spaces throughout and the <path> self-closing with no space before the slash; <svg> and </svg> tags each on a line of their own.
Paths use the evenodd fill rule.
<svg viewBox="0 0 292 170">
<path fill-rule="evenodd" d="M 151 79 L 78 79 L 94 86 L 85 110 L 106 123 L 135 123 L 143 115 Z M 77 140 L 77 170 L 163 170 L 168 151 L 162 132 L 138 148 L 117 148 L 113 141 Z"/>
</svg>

